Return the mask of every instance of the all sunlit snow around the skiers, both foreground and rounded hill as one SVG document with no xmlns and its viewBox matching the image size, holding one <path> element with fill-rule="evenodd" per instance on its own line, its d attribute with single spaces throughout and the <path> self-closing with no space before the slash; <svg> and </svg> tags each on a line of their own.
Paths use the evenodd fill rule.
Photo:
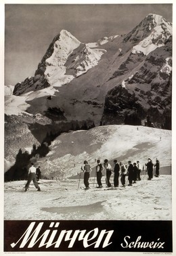
<svg viewBox="0 0 176 256">
<path fill-rule="evenodd" d="M 106 188 L 104 172 L 103 188 L 96 188 L 97 158 L 102 162 L 107 158 L 112 168 L 115 158 L 125 165 L 139 160 L 141 181 L 122 187 L 119 178 L 118 188 Z M 160 161 L 160 176 L 152 180 L 144 166 L 148 158 Z M 85 160 L 92 168 L 89 190 L 83 189 L 81 165 Z M 171 131 L 129 125 L 70 131 L 58 136 L 49 154 L 35 163 L 38 165 L 42 175 L 50 177 L 39 182 L 41 192 L 32 183 L 24 192 L 26 181 L 5 182 L 4 219 L 172 219 Z"/>
</svg>

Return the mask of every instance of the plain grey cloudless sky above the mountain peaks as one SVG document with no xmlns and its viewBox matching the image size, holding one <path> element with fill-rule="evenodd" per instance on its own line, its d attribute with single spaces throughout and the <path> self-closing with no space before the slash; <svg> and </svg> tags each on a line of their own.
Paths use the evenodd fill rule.
<svg viewBox="0 0 176 256">
<path fill-rule="evenodd" d="M 148 14 L 172 22 L 172 4 L 5 4 L 5 85 L 33 76 L 62 29 L 81 43 L 129 33 Z"/>
</svg>

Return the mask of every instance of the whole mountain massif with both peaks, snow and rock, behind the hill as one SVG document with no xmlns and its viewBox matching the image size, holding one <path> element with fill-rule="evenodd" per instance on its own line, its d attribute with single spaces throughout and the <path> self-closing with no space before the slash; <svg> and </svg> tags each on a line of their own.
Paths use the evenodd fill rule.
<svg viewBox="0 0 176 256">
<path fill-rule="evenodd" d="M 49 125 L 51 132 L 60 122 L 69 124 L 69 131 L 72 121 L 79 128 L 83 122 L 139 125 L 149 115 L 154 127 L 171 129 L 171 85 L 172 24 L 162 16 L 149 14 L 127 35 L 94 43 L 81 43 L 62 30 L 34 77 L 15 85 L 14 95 L 7 93 L 8 131 L 14 129 L 11 115 L 25 116 L 24 123 L 29 117 L 37 140 L 41 120 L 42 129 Z M 11 148 L 12 140 L 6 144 Z M 16 137 L 13 144 L 20 148 Z"/>
</svg>

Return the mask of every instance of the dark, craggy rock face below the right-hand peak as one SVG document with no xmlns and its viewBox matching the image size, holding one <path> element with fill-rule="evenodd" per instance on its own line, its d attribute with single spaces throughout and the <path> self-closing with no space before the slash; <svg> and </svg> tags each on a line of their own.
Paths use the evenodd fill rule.
<svg viewBox="0 0 176 256">
<path fill-rule="evenodd" d="M 149 115 L 155 127 L 162 127 L 166 117 L 171 119 L 172 38 L 166 45 L 152 51 L 144 64 L 130 79 L 125 87 L 118 85 L 106 95 L 102 121 L 105 123 L 127 123 L 127 116 L 146 119 Z M 135 118 L 135 116 L 136 118 Z M 171 124 L 169 125 L 171 127 Z"/>
</svg>

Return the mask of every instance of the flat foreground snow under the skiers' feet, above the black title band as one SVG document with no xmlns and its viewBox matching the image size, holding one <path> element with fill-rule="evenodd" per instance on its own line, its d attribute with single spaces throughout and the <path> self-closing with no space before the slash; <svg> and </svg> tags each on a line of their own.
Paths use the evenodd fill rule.
<svg viewBox="0 0 176 256">
<path fill-rule="evenodd" d="M 93 186 L 89 179 L 89 190 L 80 187 L 78 179 L 41 180 L 41 192 L 31 183 L 24 192 L 26 181 L 5 183 L 5 220 L 171 220 L 171 175 L 160 175 L 123 188 Z M 120 181 L 120 179 L 119 179 Z M 113 182 L 113 177 L 111 178 Z M 126 177 L 126 185 L 128 184 Z"/>
</svg>

